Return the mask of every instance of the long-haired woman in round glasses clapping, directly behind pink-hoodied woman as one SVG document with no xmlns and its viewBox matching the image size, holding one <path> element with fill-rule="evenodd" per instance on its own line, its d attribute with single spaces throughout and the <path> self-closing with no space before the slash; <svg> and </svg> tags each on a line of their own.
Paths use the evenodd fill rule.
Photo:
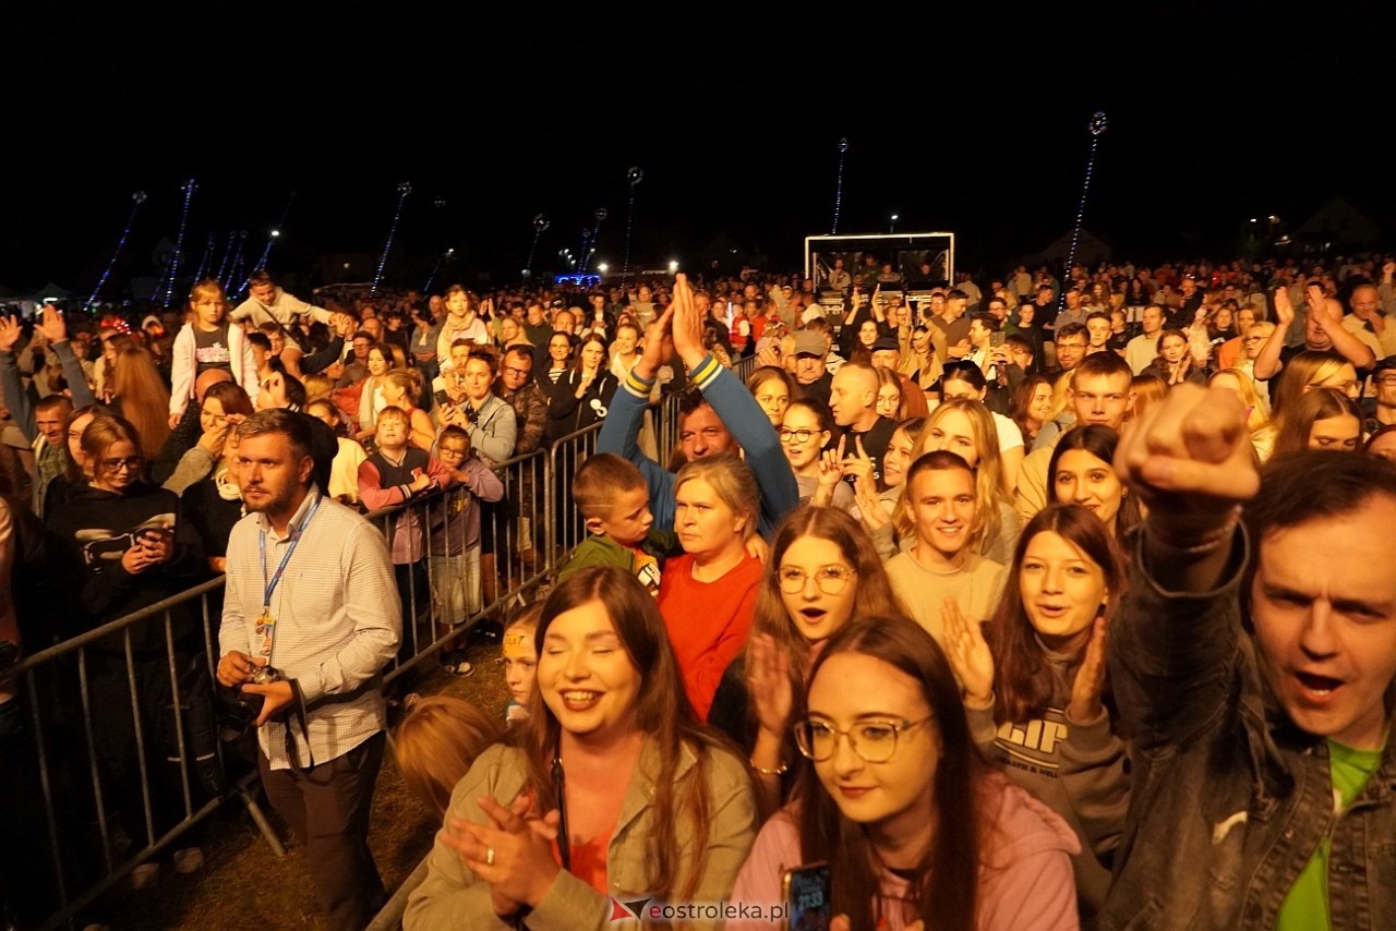
<svg viewBox="0 0 1396 931">
<path fill-rule="evenodd" d="M 799 769 L 790 722 L 804 708 L 810 664 L 854 606 L 881 616 L 906 613 L 854 518 L 839 508 L 793 511 L 771 546 L 751 639 L 723 673 L 708 716 L 748 752 L 768 808 L 779 804 Z"/>
</svg>

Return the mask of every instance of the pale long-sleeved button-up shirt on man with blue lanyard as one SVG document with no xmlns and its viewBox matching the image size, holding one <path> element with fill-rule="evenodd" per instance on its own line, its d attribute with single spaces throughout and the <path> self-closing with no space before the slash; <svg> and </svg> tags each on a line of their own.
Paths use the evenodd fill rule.
<svg viewBox="0 0 1396 931">
<path fill-rule="evenodd" d="M 311 486 L 290 521 L 299 528 L 320 491 Z M 257 656 L 267 579 L 275 575 L 290 528 L 278 537 L 262 514 L 248 514 L 228 540 L 228 592 L 218 641 L 222 655 L 232 650 Z M 258 536 L 267 535 L 267 574 Z M 396 655 L 402 609 L 383 535 L 332 498 L 324 498 L 306 525 L 295 554 L 271 597 L 276 618 L 271 664 L 300 685 L 309 706 L 310 743 L 300 724 L 290 726 L 302 766 L 341 757 L 388 726 L 383 690 L 374 677 Z M 363 691 L 346 697 L 363 687 Z M 288 720 L 293 713 L 286 715 Z M 272 769 L 289 769 L 286 723 L 269 722 L 257 740 Z"/>
</svg>

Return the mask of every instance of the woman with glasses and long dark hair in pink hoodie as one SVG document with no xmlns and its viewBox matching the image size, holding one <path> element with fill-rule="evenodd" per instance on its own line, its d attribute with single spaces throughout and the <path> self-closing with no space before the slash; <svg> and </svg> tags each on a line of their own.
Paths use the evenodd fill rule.
<svg viewBox="0 0 1396 931">
<path fill-rule="evenodd" d="M 1079 927 L 1076 837 L 984 764 L 951 666 L 913 621 L 867 616 L 835 634 L 794 737 L 812 765 L 762 826 L 734 902 L 779 903 L 786 870 L 824 861 L 836 927 Z"/>
</svg>

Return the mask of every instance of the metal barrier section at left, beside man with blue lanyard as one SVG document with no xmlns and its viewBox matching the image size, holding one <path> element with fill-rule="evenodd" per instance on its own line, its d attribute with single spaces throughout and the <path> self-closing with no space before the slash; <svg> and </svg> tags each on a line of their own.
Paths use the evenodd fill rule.
<svg viewBox="0 0 1396 931">
<path fill-rule="evenodd" d="M 7 674 L 21 685 L 15 701 L 28 705 L 32 734 L 20 750 L 32 751 L 36 769 L 6 790 L 27 796 L 18 804 L 32 804 L 42 825 L 32 837 L 7 825 L 7 843 L 34 843 L 35 858 L 52 867 L 42 895 L 57 907 L 40 927 L 68 921 L 230 798 L 283 853 L 250 790 L 255 768 L 237 773 L 216 734 L 211 606 L 222 588 L 222 576 L 204 582 L 25 657 Z M 149 625 L 162 646 L 137 650 Z M 66 851 L 77 857 L 64 861 Z"/>
</svg>

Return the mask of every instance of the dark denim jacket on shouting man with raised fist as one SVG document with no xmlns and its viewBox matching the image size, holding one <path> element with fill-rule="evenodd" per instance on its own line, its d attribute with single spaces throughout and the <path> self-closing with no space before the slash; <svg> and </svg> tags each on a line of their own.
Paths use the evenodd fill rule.
<svg viewBox="0 0 1396 931">
<path fill-rule="evenodd" d="M 1142 535 L 1141 535 L 1142 536 Z M 1226 581 L 1163 590 L 1135 549 L 1110 674 L 1134 784 L 1101 928 L 1273 928 L 1332 837 L 1335 928 L 1396 927 L 1396 759 L 1335 817 L 1328 744 L 1289 722 L 1241 627 L 1238 529 Z"/>
</svg>

